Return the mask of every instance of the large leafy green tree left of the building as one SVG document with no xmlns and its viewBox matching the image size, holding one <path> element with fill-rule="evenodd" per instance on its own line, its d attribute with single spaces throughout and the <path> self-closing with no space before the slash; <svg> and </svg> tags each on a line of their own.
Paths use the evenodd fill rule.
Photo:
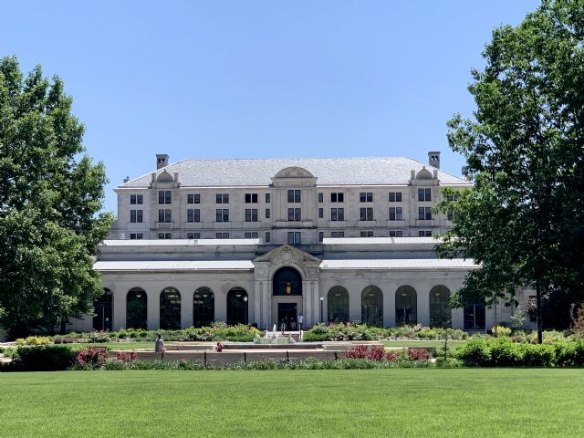
<svg viewBox="0 0 584 438">
<path fill-rule="evenodd" d="M 112 221 L 99 213 L 105 169 L 82 155 L 63 89 L 0 59 L 0 326 L 16 332 L 53 332 L 102 293 L 92 256 Z"/>
</svg>

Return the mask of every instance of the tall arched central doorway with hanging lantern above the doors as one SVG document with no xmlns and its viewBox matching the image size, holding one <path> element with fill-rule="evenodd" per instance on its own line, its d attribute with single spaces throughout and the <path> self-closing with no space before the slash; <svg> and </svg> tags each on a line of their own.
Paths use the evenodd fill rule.
<svg viewBox="0 0 584 438">
<path fill-rule="evenodd" d="M 302 276 L 291 266 L 279 268 L 272 279 L 272 320 L 277 328 L 298 329 L 302 314 Z"/>
</svg>

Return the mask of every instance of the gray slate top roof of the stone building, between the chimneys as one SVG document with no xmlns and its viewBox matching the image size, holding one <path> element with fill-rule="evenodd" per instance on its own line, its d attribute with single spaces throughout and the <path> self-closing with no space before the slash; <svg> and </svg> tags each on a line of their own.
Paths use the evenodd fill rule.
<svg viewBox="0 0 584 438">
<path fill-rule="evenodd" d="M 171 175 L 179 172 L 179 182 L 188 187 L 267 186 L 277 172 L 287 167 L 301 167 L 311 172 L 317 185 L 403 185 L 410 180 L 410 171 L 419 172 L 422 162 L 404 157 L 366 158 L 269 158 L 229 160 L 183 160 L 157 171 Z M 438 171 L 442 184 L 469 183 L 463 178 Z M 120 188 L 148 187 L 151 174 L 123 183 Z"/>
</svg>

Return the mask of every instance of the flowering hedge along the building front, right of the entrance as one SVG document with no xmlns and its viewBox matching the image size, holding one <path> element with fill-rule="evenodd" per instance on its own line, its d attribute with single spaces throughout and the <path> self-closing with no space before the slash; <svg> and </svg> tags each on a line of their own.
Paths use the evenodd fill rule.
<svg viewBox="0 0 584 438">
<path fill-rule="evenodd" d="M 369 327 L 365 324 L 317 324 L 307 330 L 303 340 L 321 342 L 326 340 L 383 340 L 383 339 L 443 339 L 444 328 L 402 326 L 392 328 Z M 460 329 L 448 328 L 450 339 L 466 339 L 468 335 Z"/>
</svg>

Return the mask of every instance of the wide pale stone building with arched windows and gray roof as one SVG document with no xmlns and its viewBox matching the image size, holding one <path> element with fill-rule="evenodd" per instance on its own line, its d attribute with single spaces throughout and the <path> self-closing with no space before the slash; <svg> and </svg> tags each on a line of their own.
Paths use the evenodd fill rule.
<svg viewBox="0 0 584 438">
<path fill-rule="evenodd" d="M 471 187 L 408 158 L 183 160 L 117 189 L 95 268 L 105 294 L 75 329 L 188 328 L 214 320 L 297 329 L 360 320 L 484 330 L 510 309 L 448 307 L 477 266 L 439 260 L 441 188 Z"/>
</svg>

